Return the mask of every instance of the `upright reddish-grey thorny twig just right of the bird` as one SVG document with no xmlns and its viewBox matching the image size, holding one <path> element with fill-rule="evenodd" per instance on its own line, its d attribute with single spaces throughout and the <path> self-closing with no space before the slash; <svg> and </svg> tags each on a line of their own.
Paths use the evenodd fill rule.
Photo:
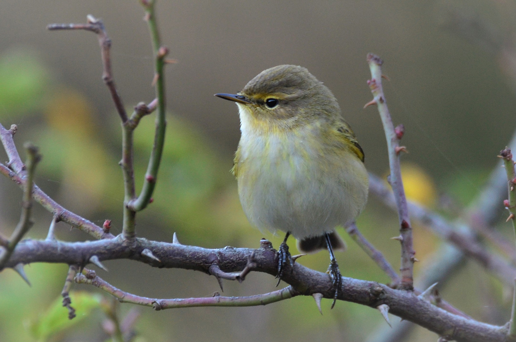
<svg viewBox="0 0 516 342">
<path fill-rule="evenodd" d="M 367 84 L 373 93 L 373 101 L 378 106 L 378 112 L 382 119 L 383 130 L 385 131 L 385 138 L 387 139 L 389 166 L 391 169 L 389 183 L 393 189 L 396 206 L 398 208 L 400 225 L 399 233 L 401 236 L 400 287 L 411 290 L 413 288 L 415 252 L 412 247 L 412 227 L 410 225 L 407 198 L 405 197 L 405 189 L 403 187 L 403 181 L 401 180 L 401 170 L 399 166 L 399 152 L 403 150 L 406 152 L 407 149 L 405 146 L 399 146 L 399 133 L 396 134 L 391 120 L 391 114 L 389 113 L 389 108 L 385 102 L 381 70 L 383 61 L 376 55 L 368 54 L 367 62 L 369 63 L 369 69 L 371 70 L 371 79 L 367 81 Z"/>
</svg>

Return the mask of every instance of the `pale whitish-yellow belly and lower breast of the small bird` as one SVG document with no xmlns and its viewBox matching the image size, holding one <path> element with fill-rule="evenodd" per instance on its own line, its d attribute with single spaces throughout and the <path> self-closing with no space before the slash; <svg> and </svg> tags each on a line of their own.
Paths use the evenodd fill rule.
<svg viewBox="0 0 516 342">
<path fill-rule="evenodd" d="M 259 229 L 291 232 L 297 239 L 319 236 L 349 224 L 365 205 L 363 163 L 309 145 L 310 134 L 240 140 L 238 193 L 249 221 Z"/>
</svg>

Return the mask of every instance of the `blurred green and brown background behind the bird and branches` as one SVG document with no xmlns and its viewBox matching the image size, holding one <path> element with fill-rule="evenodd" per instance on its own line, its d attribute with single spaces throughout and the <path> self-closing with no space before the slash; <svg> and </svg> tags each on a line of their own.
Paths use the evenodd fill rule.
<svg viewBox="0 0 516 342">
<path fill-rule="evenodd" d="M 266 237 L 247 222 L 229 173 L 239 138 L 237 109 L 216 99 L 237 92 L 260 71 L 278 64 L 307 67 L 335 94 L 366 154 L 368 170 L 388 170 L 385 138 L 371 98 L 365 56 L 380 55 L 387 101 L 395 124 L 404 123 L 403 160 L 412 198 L 440 208 L 440 198 L 459 211 L 495 167 L 496 154 L 516 127 L 516 6 L 509 1 L 220 1 L 162 0 L 157 17 L 163 43 L 178 63 L 167 66 L 168 131 L 154 202 L 137 217 L 137 233 L 208 248 L 259 246 Z M 123 202 L 121 129 L 101 79 L 98 42 L 91 32 L 49 32 L 50 23 L 104 20 L 112 39 L 112 66 L 128 110 L 153 99 L 153 62 L 143 11 L 137 1 L 26 1 L 0 3 L 0 122 L 18 125 L 19 146 L 31 140 L 43 160 L 36 182 L 59 203 L 96 224 L 112 220 L 121 232 Z M 153 138 L 153 118 L 136 131 L 137 186 L 142 183 Z M 4 151 L 0 158 L 6 160 Z M 0 178 L 0 232 L 18 221 L 21 191 Z M 502 206 L 502 205 L 501 205 Z M 449 205 L 448 205 L 449 207 Z M 449 210 L 448 210 L 449 211 Z M 449 213 L 448 213 L 449 214 Z M 447 215 L 448 215 L 447 214 Z M 31 238 L 44 238 L 52 216 L 37 206 Z M 397 219 L 371 199 L 358 220 L 363 234 L 395 268 Z M 59 223 L 57 237 L 89 237 Z M 414 227 L 415 250 L 423 266 L 439 241 Z M 503 233 L 512 238 L 509 225 Z M 344 236 L 345 233 L 340 230 Z M 345 276 L 388 282 L 388 278 L 347 237 L 337 259 Z M 294 243 L 291 242 L 292 249 Z M 294 251 L 295 252 L 295 251 Z M 327 253 L 300 259 L 324 271 Z M 147 297 L 210 296 L 213 277 L 185 270 L 153 269 L 127 260 L 106 262 L 99 275 L 126 291 Z M 78 313 L 73 327 L 38 333 L 60 297 L 67 267 L 26 267 L 32 287 L 12 270 L 0 274 L 0 341 L 104 341 L 102 305 Z M 268 275 L 251 273 L 243 284 L 224 283 L 224 295 L 275 289 Z M 75 285 L 108 298 L 87 286 Z M 504 289 L 474 263 L 446 284 L 443 297 L 482 321 L 504 324 L 511 289 Z M 96 299 L 95 299 L 96 298 Z M 95 297 L 95 300 L 98 298 Z M 98 301 L 102 302 L 101 299 Z M 88 302 L 91 303 L 91 302 Z M 339 302 L 324 315 L 312 298 L 263 307 L 189 308 L 154 312 L 140 308 L 138 341 L 362 341 L 385 325 L 370 308 Z M 123 317 L 133 305 L 122 304 Z M 66 317 L 65 308 L 60 309 Z M 398 318 L 392 317 L 392 320 Z M 39 325 L 38 325 L 39 324 Z M 416 329 L 411 341 L 435 341 Z"/>
</svg>

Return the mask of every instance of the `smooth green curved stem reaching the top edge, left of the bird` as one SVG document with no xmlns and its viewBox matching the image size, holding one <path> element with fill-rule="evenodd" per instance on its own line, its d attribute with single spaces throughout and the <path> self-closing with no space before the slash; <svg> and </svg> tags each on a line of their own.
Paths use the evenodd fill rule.
<svg viewBox="0 0 516 342">
<path fill-rule="evenodd" d="M 156 17 L 154 12 L 155 1 L 142 1 L 146 8 L 146 19 L 149 24 L 149 31 L 152 39 L 152 46 L 155 57 L 155 88 L 157 99 L 156 110 L 156 133 L 154 136 L 154 145 L 149 158 L 149 166 L 143 182 L 140 195 L 137 199 L 128 203 L 128 207 L 133 211 L 140 211 L 149 204 L 154 187 L 156 185 L 156 178 L 159 169 L 159 164 L 163 154 L 163 146 L 165 143 L 165 128 L 167 125 L 165 118 L 165 79 L 164 79 L 164 58 L 168 53 L 166 47 L 161 46 L 159 39 L 159 32 L 156 24 Z"/>
</svg>

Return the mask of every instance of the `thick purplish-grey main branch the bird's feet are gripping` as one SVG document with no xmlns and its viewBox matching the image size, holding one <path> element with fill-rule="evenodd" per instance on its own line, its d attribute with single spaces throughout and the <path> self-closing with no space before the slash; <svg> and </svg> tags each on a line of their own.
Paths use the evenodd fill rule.
<svg viewBox="0 0 516 342">
<path fill-rule="evenodd" d="M 160 263 L 141 255 L 149 249 Z M 115 239 L 103 239 L 88 242 L 60 242 L 24 240 L 14 250 L 7 267 L 19 263 L 67 263 L 84 265 L 89 256 L 98 255 L 102 260 L 133 259 L 155 267 L 183 268 L 209 273 L 213 255 L 219 258 L 219 267 L 224 272 L 243 270 L 248 264 L 249 256 L 254 252 L 255 271 L 271 275 L 277 273 L 276 251 L 268 248 L 245 249 L 223 248 L 204 249 L 195 246 L 176 245 L 174 243 L 149 241 L 135 238 L 127 241 L 121 236 Z M 300 295 L 311 296 L 320 293 L 324 298 L 333 299 L 331 279 L 326 273 L 317 272 L 295 263 L 292 273 L 285 274 L 283 281 L 292 286 Z M 507 327 L 481 323 L 472 319 L 448 313 L 441 308 L 418 299 L 412 292 L 395 290 L 376 282 L 351 278 L 342 278 L 342 288 L 338 299 L 359 303 L 376 308 L 386 304 L 390 313 L 405 320 L 412 321 L 440 335 L 449 335 L 450 339 L 470 342 L 504 341 Z M 424 313 L 424 314 L 421 314 Z"/>
</svg>

